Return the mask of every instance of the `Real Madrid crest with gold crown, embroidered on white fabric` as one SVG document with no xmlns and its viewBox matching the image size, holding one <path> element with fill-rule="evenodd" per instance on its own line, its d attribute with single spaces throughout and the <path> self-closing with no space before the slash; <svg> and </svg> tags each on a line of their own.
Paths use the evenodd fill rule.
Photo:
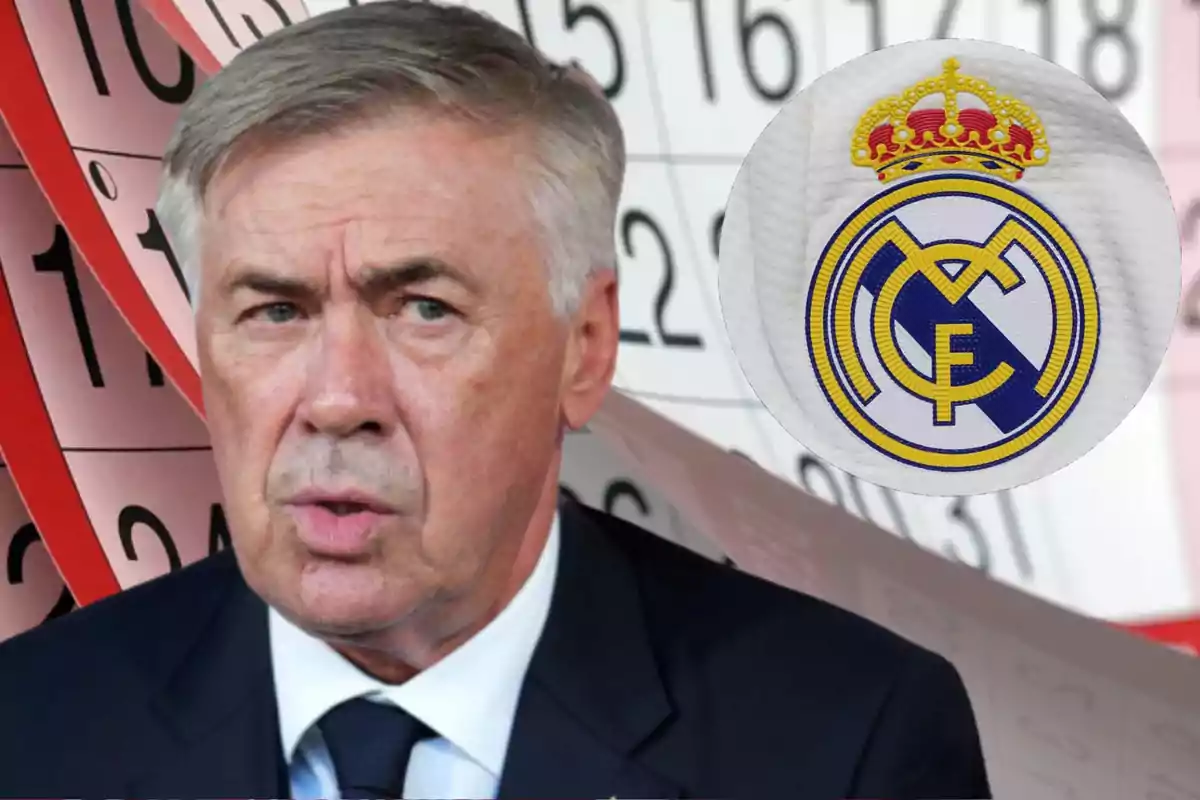
<svg viewBox="0 0 1200 800">
<path fill-rule="evenodd" d="M 890 187 L 830 239 L 805 321 L 822 389 L 871 446 L 986 467 L 1036 447 L 1082 395 L 1100 327 L 1087 257 L 1015 186 L 1049 157 L 1033 110 L 953 58 L 863 115 L 851 158 Z"/>
</svg>

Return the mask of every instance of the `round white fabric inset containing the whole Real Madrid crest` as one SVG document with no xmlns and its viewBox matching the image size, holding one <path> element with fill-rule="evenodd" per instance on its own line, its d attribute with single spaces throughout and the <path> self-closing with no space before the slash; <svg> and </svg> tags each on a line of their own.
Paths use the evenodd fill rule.
<svg viewBox="0 0 1200 800">
<path fill-rule="evenodd" d="M 1180 241 L 1136 131 L 1080 78 L 976 41 L 862 56 L 792 100 L 734 181 L 722 313 L 797 440 L 961 495 L 1061 469 L 1146 392 Z"/>
</svg>

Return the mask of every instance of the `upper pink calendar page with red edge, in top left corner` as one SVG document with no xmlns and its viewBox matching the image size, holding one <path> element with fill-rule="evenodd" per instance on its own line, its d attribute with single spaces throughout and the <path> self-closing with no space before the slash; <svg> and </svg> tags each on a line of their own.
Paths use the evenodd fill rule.
<svg viewBox="0 0 1200 800">
<path fill-rule="evenodd" d="M 199 409 L 184 278 L 152 210 L 181 103 L 203 80 L 138 2 L 0 2 L 0 114 L 79 254 Z"/>
</svg>

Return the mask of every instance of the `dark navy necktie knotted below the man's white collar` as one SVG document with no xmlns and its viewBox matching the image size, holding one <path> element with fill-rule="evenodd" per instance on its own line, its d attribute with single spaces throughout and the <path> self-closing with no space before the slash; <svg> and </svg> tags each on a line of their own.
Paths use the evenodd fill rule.
<svg viewBox="0 0 1200 800">
<path fill-rule="evenodd" d="M 434 735 L 403 709 L 361 697 L 325 714 L 320 733 L 343 800 L 403 796 L 413 746 Z"/>
</svg>

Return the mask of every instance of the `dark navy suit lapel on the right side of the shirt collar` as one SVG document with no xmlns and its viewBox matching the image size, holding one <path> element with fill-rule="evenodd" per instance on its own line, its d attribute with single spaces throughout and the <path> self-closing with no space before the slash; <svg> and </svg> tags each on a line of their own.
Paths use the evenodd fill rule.
<svg viewBox="0 0 1200 800">
<path fill-rule="evenodd" d="M 680 796 L 635 751 L 672 714 L 625 554 L 574 501 L 546 627 L 512 724 L 500 798 Z"/>
</svg>

